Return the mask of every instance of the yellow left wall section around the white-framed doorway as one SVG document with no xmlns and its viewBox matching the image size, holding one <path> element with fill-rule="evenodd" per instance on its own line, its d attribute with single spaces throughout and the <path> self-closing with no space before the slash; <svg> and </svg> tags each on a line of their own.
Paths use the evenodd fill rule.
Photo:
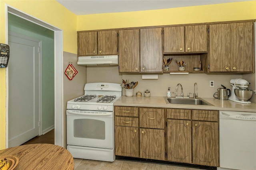
<svg viewBox="0 0 256 170">
<path fill-rule="evenodd" d="M 5 4 L 16 8 L 26 14 L 45 21 L 54 27 L 63 30 L 63 50 L 69 53 L 77 53 L 76 19 L 77 16 L 64 8 L 55 0 L 0 0 L 0 43 L 6 43 L 5 39 Z M 6 113 L 6 69 L 0 68 L 0 149 L 5 145 L 5 113 Z"/>
</svg>

